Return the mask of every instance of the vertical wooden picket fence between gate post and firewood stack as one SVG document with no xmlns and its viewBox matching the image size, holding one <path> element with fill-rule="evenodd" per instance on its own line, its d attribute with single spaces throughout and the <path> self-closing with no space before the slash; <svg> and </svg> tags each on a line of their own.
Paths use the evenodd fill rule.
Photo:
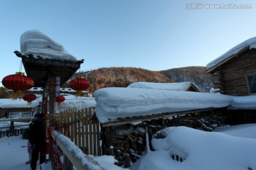
<svg viewBox="0 0 256 170">
<path fill-rule="evenodd" d="M 70 109 L 56 114 L 55 124 L 85 154 L 101 155 L 100 123 L 92 120 L 94 108 Z"/>
</svg>

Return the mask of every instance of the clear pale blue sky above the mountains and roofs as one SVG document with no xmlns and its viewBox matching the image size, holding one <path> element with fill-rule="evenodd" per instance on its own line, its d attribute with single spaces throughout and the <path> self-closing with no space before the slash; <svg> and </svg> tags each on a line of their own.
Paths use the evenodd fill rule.
<svg viewBox="0 0 256 170">
<path fill-rule="evenodd" d="M 243 4 L 251 8 L 233 7 Z M 40 30 L 84 59 L 80 71 L 160 71 L 206 66 L 256 36 L 255 16 L 254 0 L 0 0 L 0 79 L 18 72 L 14 50 L 26 30 Z"/>
</svg>

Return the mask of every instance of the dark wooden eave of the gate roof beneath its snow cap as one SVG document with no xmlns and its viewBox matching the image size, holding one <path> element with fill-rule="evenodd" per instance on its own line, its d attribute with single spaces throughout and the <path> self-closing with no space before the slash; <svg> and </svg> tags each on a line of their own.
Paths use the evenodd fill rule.
<svg viewBox="0 0 256 170">
<path fill-rule="evenodd" d="M 15 52 L 16 55 L 18 54 Z M 41 57 L 35 58 L 32 55 L 17 55 L 22 58 L 23 66 L 28 77 L 33 79 L 34 87 L 46 86 L 50 74 L 60 77 L 60 86 L 65 84 L 80 68 L 83 60 L 78 62 L 63 60 L 48 60 Z"/>
</svg>

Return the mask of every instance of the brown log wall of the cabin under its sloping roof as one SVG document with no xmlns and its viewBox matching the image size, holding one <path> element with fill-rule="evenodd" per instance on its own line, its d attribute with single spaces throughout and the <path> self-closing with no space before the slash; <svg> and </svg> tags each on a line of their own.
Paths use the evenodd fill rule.
<svg viewBox="0 0 256 170">
<path fill-rule="evenodd" d="M 222 94 L 248 96 L 247 75 L 256 74 L 256 50 L 249 50 L 215 70 L 215 88 Z"/>
</svg>

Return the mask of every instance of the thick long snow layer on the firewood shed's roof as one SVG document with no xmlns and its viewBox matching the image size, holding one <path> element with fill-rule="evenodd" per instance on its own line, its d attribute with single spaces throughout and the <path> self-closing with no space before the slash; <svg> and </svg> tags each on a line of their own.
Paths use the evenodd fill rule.
<svg viewBox="0 0 256 170">
<path fill-rule="evenodd" d="M 231 96 L 222 94 L 119 87 L 99 89 L 94 95 L 100 123 L 139 115 L 223 108 L 232 101 Z"/>
</svg>

